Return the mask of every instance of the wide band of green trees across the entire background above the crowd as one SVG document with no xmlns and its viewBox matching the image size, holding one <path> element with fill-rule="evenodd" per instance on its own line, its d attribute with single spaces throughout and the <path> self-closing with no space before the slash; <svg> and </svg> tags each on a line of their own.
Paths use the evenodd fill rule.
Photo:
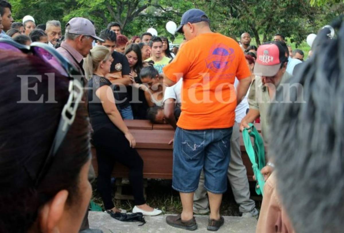
<svg viewBox="0 0 344 233">
<path fill-rule="evenodd" d="M 191 8 L 203 9 L 214 31 L 238 38 L 248 31 L 259 45 L 281 33 L 288 42 L 299 44 L 309 33 L 344 12 L 343 0 L 9 0 L 15 20 L 32 15 L 36 24 L 60 20 L 64 25 L 73 17 L 95 21 L 99 32 L 111 21 L 122 26 L 125 35 L 139 35 L 149 27 L 159 35 L 174 36 L 166 22 L 179 24 L 182 14 Z M 262 35 L 262 38 L 260 36 Z"/>
</svg>

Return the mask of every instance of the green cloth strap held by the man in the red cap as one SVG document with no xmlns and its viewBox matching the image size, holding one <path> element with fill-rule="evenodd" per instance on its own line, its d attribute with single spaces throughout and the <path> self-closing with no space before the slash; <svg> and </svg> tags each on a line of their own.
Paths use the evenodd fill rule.
<svg viewBox="0 0 344 233">
<path fill-rule="evenodd" d="M 259 188 L 256 186 L 256 193 L 263 195 L 264 176 L 260 170 L 265 166 L 265 149 L 263 139 L 260 137 L 256 127 L 249 123 L 249 128 L 243 130 L 243 140 L 248 157 L 252 163 L 253 173 L 255 174 Z M 249 131 L 250 130 L 250 131 Z M 254 147 L 252 146 L 251 138 L 254 139 Z"/>
</svg>

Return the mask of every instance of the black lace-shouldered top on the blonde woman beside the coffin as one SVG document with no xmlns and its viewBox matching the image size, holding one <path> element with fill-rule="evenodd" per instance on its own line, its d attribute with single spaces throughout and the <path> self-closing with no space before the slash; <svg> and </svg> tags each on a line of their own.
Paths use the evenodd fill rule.
<svg viewBox="0 0 344 233">
<path fill-rule="evenodd" d="M 103 105 L 96 95 L 96 91 L 99 87 L 104 85 L 111 86 L 111 82 L 104 77 L 93 75 L 93 77 L 88 81 L 87 85 L 89 88 L 87 90 L 88 112 L 93 130 L 96 131 L 103 127 L 119 130 L 105 113 Z"/>
</svg>

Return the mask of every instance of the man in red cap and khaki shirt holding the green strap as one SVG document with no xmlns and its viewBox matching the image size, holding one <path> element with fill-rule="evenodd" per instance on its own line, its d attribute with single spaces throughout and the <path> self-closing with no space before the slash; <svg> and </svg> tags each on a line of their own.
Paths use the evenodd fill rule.
<svg viewBox="0 0 344 233">
<path fill-rule="evenodd" d="M 248 128 L 248 123 L 253 123 L 260 116 L 261 131 L 265 145 L 269 144 L 268 109 L 271 103 L 276 102 L 276 89 L 283 88 L 291 75 L 286 72 L 288 58 L 279 42 L 263 44 L 258 48 L 257 61 L 254 67 L 255 80 L 252 82 L 248 104 L 249 111 L 241 120 L 240 131 Z M 271 174 L 272 166 L 264 167 L 261 172 L 267 177 Z"/>
</svg>

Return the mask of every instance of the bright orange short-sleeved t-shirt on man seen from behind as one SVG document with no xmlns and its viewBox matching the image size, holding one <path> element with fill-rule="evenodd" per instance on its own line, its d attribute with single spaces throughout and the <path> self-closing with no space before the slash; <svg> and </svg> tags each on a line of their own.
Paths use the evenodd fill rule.
<svg viewBox="0 0 344 233">
<path fill-rule="evenodd" d="M 234 125 L 238 80 L 250 76 L 239 44 L 218 33 L 205 33 L 186 42 L 163 69 L 172 81 L 183 77 L 183 129 L 217 129 Z"/>
</svg>

